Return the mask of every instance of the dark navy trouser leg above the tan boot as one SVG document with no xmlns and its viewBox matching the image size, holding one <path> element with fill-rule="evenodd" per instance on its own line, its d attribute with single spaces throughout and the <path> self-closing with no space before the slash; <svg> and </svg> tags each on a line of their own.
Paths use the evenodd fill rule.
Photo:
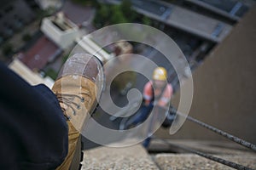
<svg viewBox="0 0 256 170">
<path fill-rule="evenodd" d="M 55 169 L 67 156 L 67 122 L 55 94 L 0 63 L 0 169 Z"/>
</svg>

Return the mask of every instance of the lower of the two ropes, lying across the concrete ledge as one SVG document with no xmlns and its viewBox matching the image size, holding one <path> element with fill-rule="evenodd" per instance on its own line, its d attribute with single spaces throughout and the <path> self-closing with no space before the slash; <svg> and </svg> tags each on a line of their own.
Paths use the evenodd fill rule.
<svg viewBox="0 0 256 170">
<path fill-rule="evenodd" d="M 169 146 L 175 146 L 175 147 L 180 148 L 182 150 L 187 150 L 187 151 L 189 151 L 191 153 L 194 153 L 194 154 L 196 154 L 198 156 L 205 157 L 205 158 L 207 158 L 209 160 L 212 160 L 212 161 L 217 161 L 218 163 L 224 164 L 225 166 L 233 167 L 233 168 L 236 168 L 236 169 L 239 169 L 239 170 L 253 170 L 250 167 L 245 167 L 245 166 L 243 166 L 241 164 L 238 164 L 238 163 L 235 163 L 233 161 L 227 161 L 227 160 L 224 160 L 224 159 L 216 157 L 216 156 L 208 155 L 208 154 L 203 153 L 201 151 L 189 149 L 189 148 L 187 148 L 185 146 L 180 146 L 180 145 L 177 145 L 177 144 L 171 144 L 166 139 L 160 139 L 160 140 L 162 140 L 163 142 L 165 142 Z"/>
</svg>

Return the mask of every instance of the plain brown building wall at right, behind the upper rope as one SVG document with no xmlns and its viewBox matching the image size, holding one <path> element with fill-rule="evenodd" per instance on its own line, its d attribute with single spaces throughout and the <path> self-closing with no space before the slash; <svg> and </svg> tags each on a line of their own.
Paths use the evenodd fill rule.
<svg viewBox="0 0 256 170">
<path fill-rule="evenodd" d="M 241 139 L 256 143 L 256 8 L 252 8 L 230 36 L 219 43 L 193 73 L 194 98 L 189 116 Z M 172 99 L 178 105 L 179 93 Z M 160 129 L 159 136 L 168 132 Z M 185 122 L 172 139 L 223 140 L 216 133 Z"/>
</svg>

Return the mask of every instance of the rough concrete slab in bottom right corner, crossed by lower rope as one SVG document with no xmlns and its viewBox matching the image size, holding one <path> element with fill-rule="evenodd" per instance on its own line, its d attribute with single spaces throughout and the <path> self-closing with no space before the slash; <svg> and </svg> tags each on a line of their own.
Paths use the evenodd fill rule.
<svg viewBox="0 0 256 170">
<path fill-rule="evenodd" d="M 218 156 L 225 160 L 234 161 L 243 166 L 256 168 L 256 156 Z M 194 154 L 158 154 L 155 156 L 155 161 L 162 170 L 178 170 L 178 169 L 234 169 L 232 167 L 224 166 L 215 161 L 210 161 L 204 157 L 196 156 Z"/>
</svg>

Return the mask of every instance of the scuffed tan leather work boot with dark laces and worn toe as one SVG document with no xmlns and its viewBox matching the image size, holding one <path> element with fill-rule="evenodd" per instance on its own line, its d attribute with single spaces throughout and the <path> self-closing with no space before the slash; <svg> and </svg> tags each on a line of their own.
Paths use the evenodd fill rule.
<svg viewBox="0 0 256 170">
<path fill-rule="evenodd" d="M 75 54 L 59 73 L 52 91 L 60 102 L 68 124 L 68 154 L 58 169 L 69 169 L 86 120 L 96 109 L 104 87 L 101 62 L 89 54 Z"/>
</svg>

